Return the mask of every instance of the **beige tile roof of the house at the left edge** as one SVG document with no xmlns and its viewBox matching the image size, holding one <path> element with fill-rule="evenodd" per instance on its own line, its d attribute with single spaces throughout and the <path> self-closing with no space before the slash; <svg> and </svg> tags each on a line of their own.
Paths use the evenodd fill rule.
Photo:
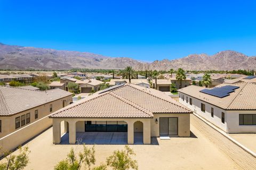
<svg viewBox="0 0 256 170">
<path fill-rule="evenodd" d="M 61 89 L 47 91 L 0 86 L 0 116 L 10 116 L 72 95 Z"/>
</svg>

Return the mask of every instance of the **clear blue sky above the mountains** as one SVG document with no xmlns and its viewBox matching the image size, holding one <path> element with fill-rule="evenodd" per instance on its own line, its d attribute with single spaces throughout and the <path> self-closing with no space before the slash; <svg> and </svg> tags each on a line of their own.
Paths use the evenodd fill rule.
<svg viewBox="0 0 256 170">
<path fill-rule="evenodd" d="M 256 55 L 256 1 L 0 0 L 0 42 L 137 60 Z"/>
</svg>

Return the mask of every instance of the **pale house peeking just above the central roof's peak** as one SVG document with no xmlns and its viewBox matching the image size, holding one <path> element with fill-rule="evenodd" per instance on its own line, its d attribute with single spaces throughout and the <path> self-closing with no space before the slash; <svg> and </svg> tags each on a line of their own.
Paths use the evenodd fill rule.
<svg viewBox="0 0 256 170">
<path fill-rule="evenodd" d="M 129 79 L 111 79 L 110 82 L 106 82 L 109 84 L 109 87 L 119 85 L 119 84 L 125 84 L 129 83 Z M 148 79 L 131 79 L 132 84 L 137 84 L 138 86 L 142 87 L 150 87 L 150 84 L 148 83 Z"/>
</svg>

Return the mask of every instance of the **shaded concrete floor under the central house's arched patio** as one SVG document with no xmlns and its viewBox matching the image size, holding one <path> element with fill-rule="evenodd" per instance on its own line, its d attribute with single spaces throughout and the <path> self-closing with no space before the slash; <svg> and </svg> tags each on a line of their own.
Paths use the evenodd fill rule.
<svg viewBox="0 0 256 170">
<path fill-rule="evenodd" d="M 126 145 L 127 132 L 76 132 L 78 144 L 86 145 Z M 69 133 L 61 137 L 60 144 L 69 143 Z M 143 144 L 143 133 L 134 132 L 134 144 Z"/>
</svg>

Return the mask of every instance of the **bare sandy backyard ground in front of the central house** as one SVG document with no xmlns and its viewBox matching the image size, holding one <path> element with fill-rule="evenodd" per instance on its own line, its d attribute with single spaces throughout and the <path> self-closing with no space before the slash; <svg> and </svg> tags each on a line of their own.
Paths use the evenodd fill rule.
<svg viewBox="0 0 256 170">
<path fill-rule="evenodd" d="M 225 153 L 207 140 L 191 125 L 191 138 L 159 140 L 159 145 L 131 145 L 137 154 L 139 169 L 240 169 Z M 81 145 L 53 145 L 52 128 L 27 143 L 30 149 L 30 163 L 26 169 L 53 169 L 65 159 L 71 147 L 79 151 Z M 88 145 L 92 147 L 92 145 Z M 97 165 L 105 162 L 114 150 L 123 145 L 96 145 Z M 17 151 L 14 152 L 16 154 Z M 3 160 L 2 160 L 3 161 Z"/>
</svg>

